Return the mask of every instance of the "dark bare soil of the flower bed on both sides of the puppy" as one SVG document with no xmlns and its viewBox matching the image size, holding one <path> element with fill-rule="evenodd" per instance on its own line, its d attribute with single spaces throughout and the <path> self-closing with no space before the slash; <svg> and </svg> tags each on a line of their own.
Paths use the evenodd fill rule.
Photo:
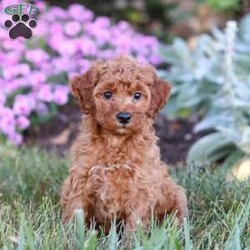
<svg viewBox="0 0 250 250">
<path fill-rule="evenodd" d="M 61 108 L 59 114 L 49 123 L 32 129 L 26 134 L 26 145 L 40 145 L 60 154 L 68 150 L 77 136 L 81 122 L 81 112 L 77 105 Z M 159 137 L 162 160 L 168 164 L 185 162 L 190 146 L 200 137 L 192 132 L 197 119 L 169 121 L 162 115 L 155 119 L 156 135 Z"/>
</svg>

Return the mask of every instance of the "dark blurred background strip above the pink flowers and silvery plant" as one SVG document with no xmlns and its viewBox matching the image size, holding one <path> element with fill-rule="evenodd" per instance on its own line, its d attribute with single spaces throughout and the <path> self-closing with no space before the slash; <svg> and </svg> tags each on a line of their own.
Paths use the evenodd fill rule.
<svg viewBox="0 0 250 250">
<path fill-rule="evenodd" d="M 114 22 L 126 20 L 138 30 L 162 41 L 173 36 L 189 38 L 223 27 L 228 19 L 239 19 L 250 11 L 248 0 L 48 0 L 52 5 L 68 7 L 82 3 L 98 16 L 109 16 Z"/>
</svg>

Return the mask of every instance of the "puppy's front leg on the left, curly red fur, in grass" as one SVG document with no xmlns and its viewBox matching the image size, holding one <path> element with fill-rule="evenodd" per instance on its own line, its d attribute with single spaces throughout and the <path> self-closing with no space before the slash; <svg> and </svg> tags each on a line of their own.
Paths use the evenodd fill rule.
<svg viewBox="0 0 250 250">
<path fill-rule="evenodd" d="M 83 209 L 85 219 L 90 216 L 91 199 L 87 195 L 86 175 L 82 168 L 72 167 L 61 192 L 60 203 L 63 210 L 63 221 L 68 222 L 76 209 Z"/>
</svg>

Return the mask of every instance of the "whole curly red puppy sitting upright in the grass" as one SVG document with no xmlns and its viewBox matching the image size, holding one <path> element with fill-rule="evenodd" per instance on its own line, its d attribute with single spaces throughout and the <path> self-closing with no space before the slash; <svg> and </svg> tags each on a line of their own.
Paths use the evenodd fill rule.
<svg viewBox="0 0 250 250">
<path fill-rule="evenodd" d="M 122 56 L 96 62 L 71 89 L 84 115 L 61 194 L 64 220 L 82 208 L 87 223 L 94 219 L 106 231 L 114 218 L 127 231 L 138 221 L 146 227 L 152 214 L 161 220 L 176 213 L 181 222 L 186 195 L 160 160 L 153 129 L 168 83 L 152 66 Z"/>
</svg>

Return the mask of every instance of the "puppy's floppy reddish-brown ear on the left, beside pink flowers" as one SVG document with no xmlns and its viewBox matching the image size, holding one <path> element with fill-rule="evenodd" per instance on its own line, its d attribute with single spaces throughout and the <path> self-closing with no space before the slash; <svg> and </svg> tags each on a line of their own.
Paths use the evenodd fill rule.
<svg viewBox="0 0 250 250">
<path fill-rule="evenodd" d="M 100 62 L 95 63 L 85 74 L 70 80 L 71 92 L 86 114 L 95 110 L 93 91 L 100 77 L 99 65 Z"/>
</svg>

